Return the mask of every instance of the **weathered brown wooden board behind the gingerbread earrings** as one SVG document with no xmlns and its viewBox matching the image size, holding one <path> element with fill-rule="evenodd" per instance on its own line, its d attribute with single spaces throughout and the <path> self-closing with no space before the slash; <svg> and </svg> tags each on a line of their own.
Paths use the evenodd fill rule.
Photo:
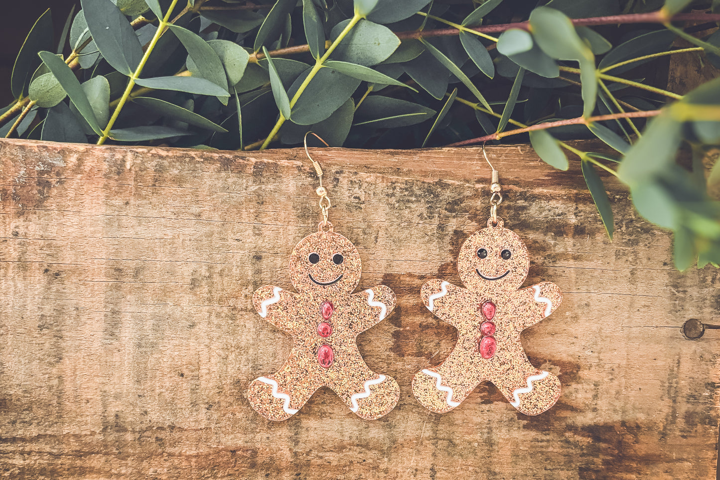
<svg viewBox="0 0 720 480">
<path fill-rule="evenodd" d="M 528 285 L 564 301 L 523 334 L 559 375 L 559 403 L 519 414 L 482 385 L 448 414 L 415 401 L 413 374 L 456 332 L 420 286 L 458 283 L 462 241 L 485 224 L 477 149 L 315 149 L 336 231 L 358 246 L 361 288 L 392 316 L 361 334 L 397 408 L 359 419 L 321 390 L 286 422 L 251 409 L 248 383 L 292 345 L 251 306 L 289 288 L 287 262 L 318 222 L 301 150 L 238 154 L 0 143 L 0 476 L 12 479 L 711 479 L 718 438 L 719 274 L 674 270 L 670 236 L 611 179 L 609 241 L 578 165 L 491 148 L 505 225 L 526 241 Z"/>
</svg>

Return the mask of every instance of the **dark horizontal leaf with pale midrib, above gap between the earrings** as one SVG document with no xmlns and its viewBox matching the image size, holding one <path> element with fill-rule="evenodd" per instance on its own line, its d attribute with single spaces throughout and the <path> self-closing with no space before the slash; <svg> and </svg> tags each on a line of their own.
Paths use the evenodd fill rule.
<svg viewBox="0 0 720 480">
<path fill-rule="evenodd" d="M 422 123 L 435 115 L 435 110 L 390 97 L 367 97 L 355 112 L 354 125 L 374 128 L 397 128 Z"/>
</svg>

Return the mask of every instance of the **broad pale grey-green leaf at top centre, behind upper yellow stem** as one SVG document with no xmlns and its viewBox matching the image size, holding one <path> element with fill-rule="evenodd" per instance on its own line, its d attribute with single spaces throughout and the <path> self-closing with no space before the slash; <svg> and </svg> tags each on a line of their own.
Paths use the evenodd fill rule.
<svg viewBox="0 0 720 480">
<path fill-rule="evenodd" d="M 330 38 L 336 40 L 349 22 L 350 20 L 344 20 L 333 27 Z M 333 51 L 332 58 L 372 66 L 390 57 L 398 45 L 400 38 L 389 28 L 368 20 L 360 20 Z"/>
</svg>

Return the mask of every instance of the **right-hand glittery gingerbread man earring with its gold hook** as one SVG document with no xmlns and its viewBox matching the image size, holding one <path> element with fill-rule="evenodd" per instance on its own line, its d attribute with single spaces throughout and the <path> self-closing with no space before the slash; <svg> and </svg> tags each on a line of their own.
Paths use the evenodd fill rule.
<svg viewBox="0 0 720 480">
<path fill-rule="evenodd" d="M 503 228 L 500 176 L 485 145 L 482 154 L 492 169 L 490 218 L 460 249 L 457 270 L 466 288 L 434 279 L 421 290 L 428 310 L 458 330 L 457 344 L 441 365 L 415 374 L 413 393 L 426 408 L 444 413 L 490 381 L 519 412 L 536 415 L 555 404 L 560 381 L 530 364 L 520 334 L 552 314 L 562 293 L 550 282 L 520 289 L 530 257 L 520 237 Z"/>
</svg>

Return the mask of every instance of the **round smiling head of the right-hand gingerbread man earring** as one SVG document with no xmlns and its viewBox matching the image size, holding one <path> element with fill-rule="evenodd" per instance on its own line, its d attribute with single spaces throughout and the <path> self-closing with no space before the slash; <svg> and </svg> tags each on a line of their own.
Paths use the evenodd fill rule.
<svg viewBox="0 0 720 480">
<path fill-rule="evenodd" d="M 489 225 L 475 232 L 462 245 L 457 270 L 462 283 L 475 291 L 517 290 L 530 269 L 525 244 L 513 231 Z"/>
</svg>

